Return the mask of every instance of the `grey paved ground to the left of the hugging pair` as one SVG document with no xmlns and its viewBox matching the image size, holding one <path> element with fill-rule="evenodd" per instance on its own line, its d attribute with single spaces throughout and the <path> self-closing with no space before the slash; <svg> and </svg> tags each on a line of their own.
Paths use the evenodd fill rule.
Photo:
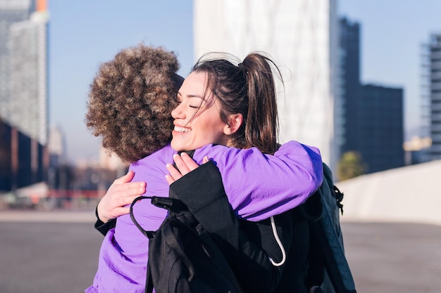
<svg viewBox="0 0 441 293">
<path fill-rule="evenodd" d="M 1 293 L 77 293 L 92 284 L 103 239 L 92 223 L 0 222 L 0 235 Z"/>
</svg>

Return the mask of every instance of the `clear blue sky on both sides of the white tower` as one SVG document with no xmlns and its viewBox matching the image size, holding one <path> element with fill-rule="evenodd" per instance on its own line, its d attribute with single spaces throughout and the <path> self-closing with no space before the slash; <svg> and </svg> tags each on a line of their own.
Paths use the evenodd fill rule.
<svg viewBox="0 0 441 293">
<path fill-rule="evenodd" d="M 406 137 L 419 124 L 421 44 L 441 32 L 438 0 L 339 0 L 361 25 L 361 82 L 404 89 Z M 87 93 L 101 63 L 139 43 L 163 46 L 186 76 L 194 61 L 192 0 L 49 1 L 49 123 L 63 131 L 72 163 L 98 159 L 85 126 Z"/>
</svg>

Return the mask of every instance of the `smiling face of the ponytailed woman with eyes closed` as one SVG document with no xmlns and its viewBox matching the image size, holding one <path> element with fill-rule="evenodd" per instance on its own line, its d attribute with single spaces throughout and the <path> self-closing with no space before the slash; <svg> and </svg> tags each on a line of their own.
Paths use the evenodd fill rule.
<svg viewBox="0 0 441 293">
<path fill-rule="evenodd" d="M 171 146 L 176 151 L 195 150 L 210 143 L 231 146 L 230 127 L 221 119 L 221 108 L 211 91 L 206 91 L 206 73 L 192 72 L 178 91 L 178 107 Z"/>
</svg>

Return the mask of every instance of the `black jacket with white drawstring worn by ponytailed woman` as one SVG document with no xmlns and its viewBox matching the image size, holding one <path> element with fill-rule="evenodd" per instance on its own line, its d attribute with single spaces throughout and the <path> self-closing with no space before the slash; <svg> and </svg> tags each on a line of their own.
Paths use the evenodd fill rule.
<svg viewBox="0 0 441 293">
<path fill-rule="evenodd" d="M 221 173 L 213 162 L 183 176 L 170 185 L 170 197 L 184 202 L 194 217 L 209 231 L 244 292 L 306 292 L 309 247 L 308 224 L 297 209 L 274 216 L 275 226 L 287 259 L 282 259 L 271 219 L 251 222 L 237 220 L 223 188 Z"/>
</svg>

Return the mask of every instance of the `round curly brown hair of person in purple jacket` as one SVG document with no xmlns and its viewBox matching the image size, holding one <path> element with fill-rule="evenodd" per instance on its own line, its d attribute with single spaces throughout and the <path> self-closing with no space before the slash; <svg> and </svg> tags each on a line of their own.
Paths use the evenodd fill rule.
<svg viewBox="0 0 441 293">
<path fill-rule="evenodd" d="M 86 124 L 102 145 L 124 162 L 135 162 L 171 139 L 176 93 L 182 77 L 173 51 L 125 48 L 100 65 L 90 84 Z"/>
</svg>

